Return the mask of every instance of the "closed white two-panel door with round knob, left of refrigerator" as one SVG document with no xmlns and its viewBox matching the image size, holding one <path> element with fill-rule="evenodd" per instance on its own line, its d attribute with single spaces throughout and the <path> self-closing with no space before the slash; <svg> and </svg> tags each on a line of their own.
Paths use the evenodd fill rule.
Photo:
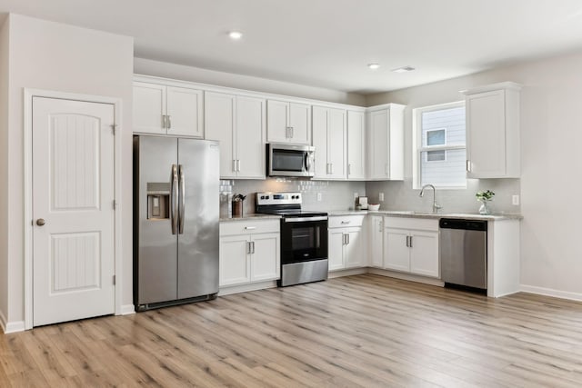
<svg viewBox="0 0 582 388">
<path fill-rule="evenodd" d="M 33 325 L 115 313 L 113 104 L 33 98 Z"/>
</svg>

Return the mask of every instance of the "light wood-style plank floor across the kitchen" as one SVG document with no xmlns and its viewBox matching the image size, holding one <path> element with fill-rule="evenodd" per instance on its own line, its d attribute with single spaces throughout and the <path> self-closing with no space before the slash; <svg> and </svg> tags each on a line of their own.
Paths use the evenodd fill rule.
<svg viewBox="0 0 582 388">
<path fill-rule="evenodd" d="M 582 386 L 582 303 L 364 274 L 0 334 L 0 386 Z"/>
</svg>

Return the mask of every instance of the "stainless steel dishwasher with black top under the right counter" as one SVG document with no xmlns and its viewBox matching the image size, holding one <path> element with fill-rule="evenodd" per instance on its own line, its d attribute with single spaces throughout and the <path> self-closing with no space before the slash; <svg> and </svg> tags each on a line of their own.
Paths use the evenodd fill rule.
<svg viewBox="0 0 582 388">
<path fill-rule="evenodd" d="M 441 218 L 440 264 L 446 286 L 487 290 L 487 221 Z"/>
</svg>

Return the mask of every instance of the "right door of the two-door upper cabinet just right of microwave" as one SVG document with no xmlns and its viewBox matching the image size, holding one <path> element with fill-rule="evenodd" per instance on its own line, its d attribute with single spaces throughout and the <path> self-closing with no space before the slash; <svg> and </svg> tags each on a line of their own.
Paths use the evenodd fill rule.
<svg viewBox="0 0 582 388">
<path fill-rule="evenodd" d="M 327 162 L 328 179 L 346 179 L 346 111 L 327 110 Z"/>
</svg>

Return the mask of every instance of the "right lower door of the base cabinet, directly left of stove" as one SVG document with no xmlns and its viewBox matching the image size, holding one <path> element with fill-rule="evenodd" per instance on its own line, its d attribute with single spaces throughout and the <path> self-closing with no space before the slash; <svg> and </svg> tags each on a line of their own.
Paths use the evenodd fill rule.
<svg viewBox="0 0 582 388">
<path fill-rule="evenodd" d="M 279 234 L 253 234 L 251 282 L 276 280 L 280 277 Z"/>
</svg>

